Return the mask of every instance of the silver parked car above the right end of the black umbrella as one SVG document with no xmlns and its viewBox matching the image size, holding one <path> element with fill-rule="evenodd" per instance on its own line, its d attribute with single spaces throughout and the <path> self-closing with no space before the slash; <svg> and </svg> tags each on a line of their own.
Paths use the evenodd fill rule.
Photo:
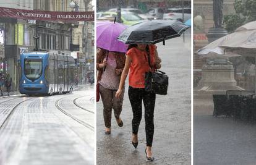
<svg viewBox="0 0 256 165">
<path fill-rule="evenodd" d="M 184 19 L 182 11 L 184 11 Z M 163 19 L 179 20 L 181 22 L 191 19 L 191 9 L 189 7 L 184 7 L 184 10 L 182 8 L 168 8 L 166 12 L 163 14 Z"/>
</svg>

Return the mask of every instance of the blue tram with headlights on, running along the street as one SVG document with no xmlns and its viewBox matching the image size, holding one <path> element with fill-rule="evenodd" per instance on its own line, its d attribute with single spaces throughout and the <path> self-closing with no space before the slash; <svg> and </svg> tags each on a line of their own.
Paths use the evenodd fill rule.
<svg viewBox="0 0 256 165">
<path fill-rule="evenodd" d="M 22 94 L 67 93 L 75 85 L 75 61 L 72 56 L 51 52 L 22 53 L 20 70 Z"/>
</svg>

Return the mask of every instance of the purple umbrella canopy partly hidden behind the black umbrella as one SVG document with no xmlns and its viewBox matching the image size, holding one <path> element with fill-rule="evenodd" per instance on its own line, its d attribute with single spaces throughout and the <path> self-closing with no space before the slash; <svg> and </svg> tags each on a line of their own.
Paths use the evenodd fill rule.
<svg viewBox="0 0 256 165">
<path fill-rule="evenodd" d="M 96 24 L 96 46 L 108 51 L 126 53 L 127 46 L 116 40 L 117 36 L 126 29 L 126 26 L 117 22 L 97 22 Z"/>
</svg>

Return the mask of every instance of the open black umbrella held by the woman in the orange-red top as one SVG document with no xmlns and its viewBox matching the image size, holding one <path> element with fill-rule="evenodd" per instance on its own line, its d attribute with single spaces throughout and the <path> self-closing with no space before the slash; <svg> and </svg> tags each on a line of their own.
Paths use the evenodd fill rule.
<svg viewBox="0 0 256 165">
<path fill-rule="evenodd" d="M 181 36 L 189 28 L 178 20 L 149 20 L 126 28 L 117 40 L 126 44 L 155 44 L 161 41 Z"/>
</svg>

